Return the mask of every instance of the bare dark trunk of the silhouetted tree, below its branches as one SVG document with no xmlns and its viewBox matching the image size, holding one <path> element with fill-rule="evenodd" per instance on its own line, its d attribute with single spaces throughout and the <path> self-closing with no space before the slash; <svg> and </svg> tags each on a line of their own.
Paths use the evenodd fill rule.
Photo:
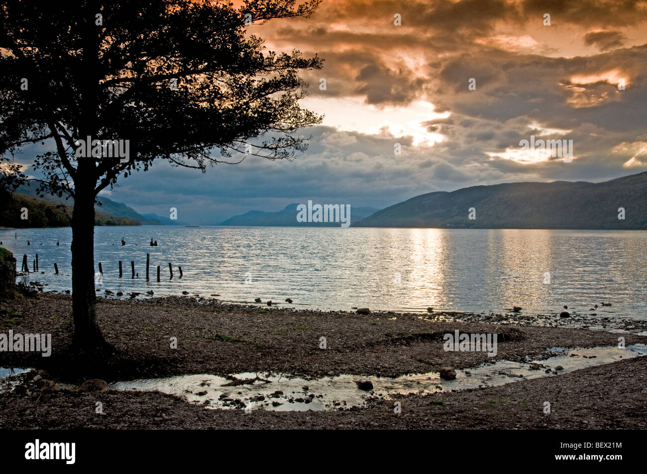
<svg viewBox="0 0 647 474">
<path fill-rule="evenodd" d="M 83 352 L 103 352 L 109 347 L 101 334 L 95 308 L 94 189 L 81 184 L 75 189 L 72 215 L 72 313 L 74 347 Z"/>
</svg>

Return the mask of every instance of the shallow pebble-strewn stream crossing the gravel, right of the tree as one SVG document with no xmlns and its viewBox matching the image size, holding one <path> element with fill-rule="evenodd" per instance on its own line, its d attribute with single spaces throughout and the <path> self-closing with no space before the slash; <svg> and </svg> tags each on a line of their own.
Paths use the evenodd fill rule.
<svg viewBox="0 0 647 474">
<path fill-rule="evenodd" d="M 473 369 L 456 371 L 455 380 L 442 380 L 438 372 L 412 374 L 397 378 L 341 375 L 318 380 L 286 378 L 281 374 L 245 372 L 232 378 L 209 374 L 132 380 L 111 383 L 115 390 L 160 391 L 186 396 L 188 402 L 207 408 L 265 409 L 274 411 L 336 410 L 366 405 L 371 398 L 394 398 L 398 395 L 432 394 L 478 387 L 494 387 L 545 376 L 556 376 L 585 367 L 611 363 L 622 358 L 647 355 L 647 345 L 626 349 L 592 347 L 565 350 L 548 349 L 559 354 L 526 363 L 498 361 Z M 532 366 L 532 368 L 531 368 Z M 557 367 L 562 369 L 557 371 Z M 360 390 L 356 381 L 369 380 L 373 390 Z M 234 385 L 233 383 L 239 383 Z"/>
</svg>

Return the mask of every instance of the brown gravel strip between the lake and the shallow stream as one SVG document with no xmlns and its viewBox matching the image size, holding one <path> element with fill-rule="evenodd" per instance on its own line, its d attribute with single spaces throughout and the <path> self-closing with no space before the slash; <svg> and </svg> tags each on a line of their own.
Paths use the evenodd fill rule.
<svg viewBox="0 0 647 474">
<path fill-rule="evenodd" d="M 498 360 L 526 361 L 526 356 L 547 356 L 551 347 L 614 346 L 620 336 L 626 345 L 647 343 L 647 336 L 628 332 L 516 325 L 506 323 L 505 317 L 488 322 L 442 320 L 468 318 L 464 313 L 363 315 L 154 297 L 98 301 L 105 339 L 118 352 L 101 361 L 88 361 L 70 351 L 71 311 L 71 297 L 63 295 L 40 293 L 0 303 L 0 332 L 52 334 L 50 357 L 1 352 L 3 366 L 46 369 L 69 382 L 83 377 L 114 382 L 249 371 L 305 377 L 331 373 L 395 377 L 435 371 L 442 365 L 463 369 Z M 445 352 L 443 336 L 455 330 L 498 334 L 498 354 Z M 327 341 L 325 350 L 320 349 L 322 336 Z M 177 338 L 177 349 L 171 349 L 171 338 Z"/>
</svg>

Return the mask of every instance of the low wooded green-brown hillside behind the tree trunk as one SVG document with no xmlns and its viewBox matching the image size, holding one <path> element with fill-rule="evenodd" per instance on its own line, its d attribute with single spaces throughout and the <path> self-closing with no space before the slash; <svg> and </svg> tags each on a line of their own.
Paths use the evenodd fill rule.
<svg viewBox="0 0 647 474">
<path fill-rule="evenodd" d="M 21 219 L 21 209 L 27 208 L 27 219 Z M 3 227 L 67 227 L 72 217 L 71 204 L 57 204 L 38 197 L 16 193 L 0 196 L 0 226 Z M 115 217 L 97 211 L 96 226 L 138 226 L 137 219 Z"/>
</svg>

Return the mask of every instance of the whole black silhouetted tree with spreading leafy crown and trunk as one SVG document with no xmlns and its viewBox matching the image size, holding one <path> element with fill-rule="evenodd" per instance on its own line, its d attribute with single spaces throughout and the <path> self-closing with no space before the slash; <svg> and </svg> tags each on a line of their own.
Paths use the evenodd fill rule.
<svg viewBox="0 0 647 474">
<path fill-rule="evenodd" d="M 95 314 L 96 195 L 157 158 L 204 172 L 232 149 L 270 159 L 303 151 L 307 142 L 296 133 L 320 117 L 298 105 L 305 96 L 298 72 L 320 69 L 322 60 L 296 50 L 268 51 L 248 28 L 308 17 L 318 4 L 0 5 L 0 155 L 37 142 L 56 150 L 38 155 L 34 167 L 45 176 L 39 193 L 74 198 L 72 307 L 79 349 L 110 347 Z M 105 156 L 109 147 L 98 149 L 99 157 L 77 157 L 86 137 L 128 140 L 129 159 Z"/>
</svg>

